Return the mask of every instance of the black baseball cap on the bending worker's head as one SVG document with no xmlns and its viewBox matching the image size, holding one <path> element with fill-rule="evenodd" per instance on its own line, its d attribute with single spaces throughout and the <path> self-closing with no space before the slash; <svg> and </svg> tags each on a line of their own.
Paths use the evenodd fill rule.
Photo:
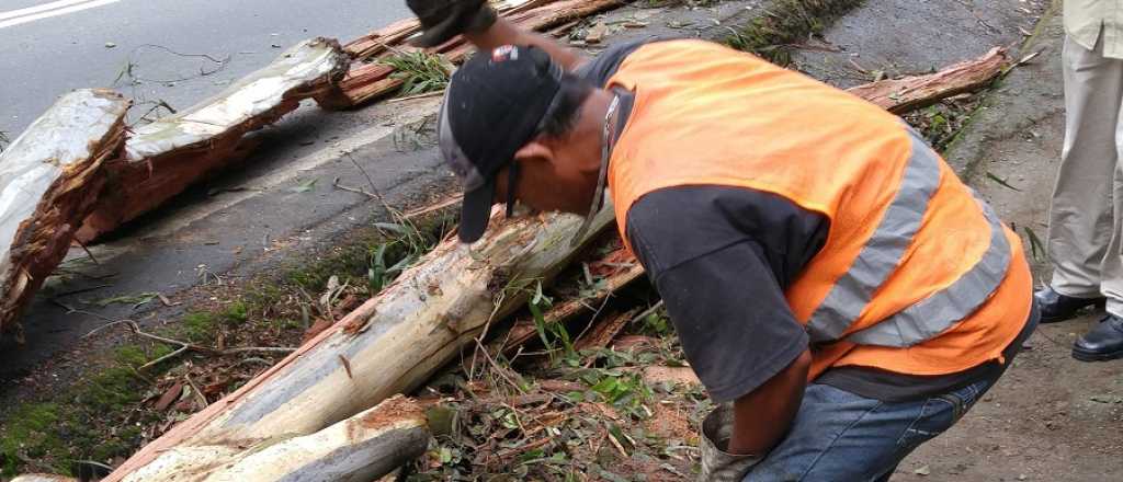
<svg viewBox="0 0 1123 482">
<path fill-rule="evenodd" d="M 453 75 L 437 132 L 445 161 L 464 185 L 462 242 L 487 230 L 496 174 L 539 133 L 564 81 L 546 52 L 511 45 L 476 53 Z"/>
</svg>

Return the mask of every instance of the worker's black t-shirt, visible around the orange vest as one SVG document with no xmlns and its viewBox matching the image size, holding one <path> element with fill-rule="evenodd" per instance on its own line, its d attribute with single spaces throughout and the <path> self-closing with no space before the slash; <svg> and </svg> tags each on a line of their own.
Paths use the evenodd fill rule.
<svg viewBox="0 0 1123 482">
<path fill-rule="evenodd" d="M 609 48 L 577 73 L 604 86 L 623 59 L 649 41 L 658 40 Z M 621 126 L 632 105 L 628 93 L 622 98 Z M 715 401 L 755 390 L 809 347 L 784 290 L 825 243 L 825 216 L 772 193 L 702 185 L 641 196 L 627 223 L 632 249 L 666 303 L 686 358 Z M 1031 330 L 1028 323 L 1011 343 L 1007 360 Z M 840 367 L 815 382 L 903 401 L 955 390 L 1002 368 L 988 362 L 929 377 Z"/>
</svg>

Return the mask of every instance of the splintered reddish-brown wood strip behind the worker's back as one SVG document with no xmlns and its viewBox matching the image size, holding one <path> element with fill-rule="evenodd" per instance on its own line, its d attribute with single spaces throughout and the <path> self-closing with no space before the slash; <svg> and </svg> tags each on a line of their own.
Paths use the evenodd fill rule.
<svg viewBox="0 0 1123 482">
<path fill-rule="evenodd" d="M 979 58 L 949 65 L 934 74 L 873 82 L 849 92 L 900 114 L 982 89 L 1008 66 L 1006 49 L 995 47 Z"/>
</svg>

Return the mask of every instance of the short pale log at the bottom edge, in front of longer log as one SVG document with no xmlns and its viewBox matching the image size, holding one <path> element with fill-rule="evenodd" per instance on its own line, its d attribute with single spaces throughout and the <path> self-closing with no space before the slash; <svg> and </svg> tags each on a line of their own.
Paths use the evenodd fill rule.
<svg viewBox="0 0 1123 482">
<path fill-rule="evenodd" d="M 368 482 L 421 456 L 428 444 L 424 410 L 399 395 L 310 435 L 177 446 L 124 480 Z"/>
</svg>

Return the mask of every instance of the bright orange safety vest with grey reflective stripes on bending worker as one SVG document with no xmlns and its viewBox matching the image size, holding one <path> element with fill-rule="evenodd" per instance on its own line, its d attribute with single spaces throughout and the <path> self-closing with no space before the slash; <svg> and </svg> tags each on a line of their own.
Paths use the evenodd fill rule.
<svg viewBox="0 0 1123 482">
<path fill-rule="evenodd" d="M 834 365 L 955 373 L 1002 361 L 1024 326 L 1020 239 L 897 117 L 700 40 L 645 45 L 609 85 L 636 95 L 608 175 L 626 243 L 632 203 L 673 186 L 747 187 L 830 220 L 785 293 L 811 337 L 810 379 Z"/>
</svg>

